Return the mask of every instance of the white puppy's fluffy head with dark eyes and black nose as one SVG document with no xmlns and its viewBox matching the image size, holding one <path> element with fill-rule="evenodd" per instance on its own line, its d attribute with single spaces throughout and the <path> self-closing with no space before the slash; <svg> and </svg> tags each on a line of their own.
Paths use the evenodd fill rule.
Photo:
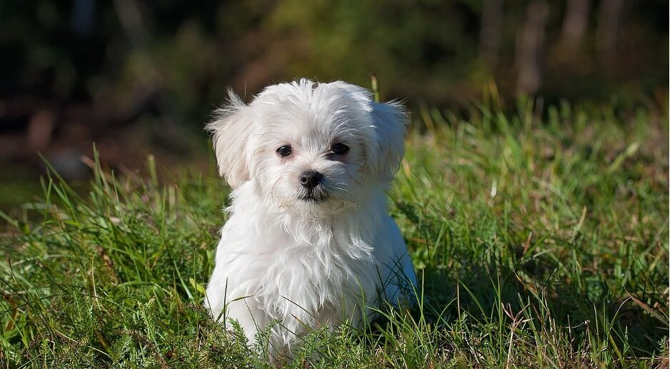
<svg viewBox="0 0 670 369">
<path fill-rule="evenodd" d="M 323 218 L 360 203 L 393 177 L 406 114 L 341 81 L 268 86 L 249 105 L 234 93 L 207 128 L 231 187 L 254 181 L 275 206 Z M 376 187 L 374 187 L 376 186 Z"/>
</svg>

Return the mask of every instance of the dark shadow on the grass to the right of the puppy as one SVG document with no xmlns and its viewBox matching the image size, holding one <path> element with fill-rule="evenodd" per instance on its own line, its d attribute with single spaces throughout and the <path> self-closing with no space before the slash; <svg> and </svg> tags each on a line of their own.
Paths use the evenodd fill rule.
<svg viewBox="0 0 670 369">
<path fill-rule="evenodd" d="M 561 252 L 531 255 L 530 238 L 525 245 L 517 242 L 519 235 L 501 229 L 495 217 L 474 222 L 496 235 L 486 238 L 481 228 L 462 227 L 467 222 L 457 214 L 446 221 L 451 227 L 419 218 L 415 206 L 396 207 L 400 218 L 415 227 L 409 248 L 426 250 L 417 273 L 419 303 L 410 315 L 419 322 L 416 326 L 427 327 L 419 328 L 424 339 L 441 341 L 422 343 L 432 345 L 431 350 L 444 350 L 451 358 L 460 355 L 461 365 L 504 365 L 524 353 L 564 358 L 563 365 L 569 366 L 565 363 L 621 365 L 666 355 L 667 292 L 659 290 L 664 285 L 659 273 L 650 276 L 630 268 L 626 273 L 640 273 L 635 280 L 614 286 L 619 280 L 608 265 L 589 269 L 563 252 L 585 249 L 579 239 L 570 244 L 552 240 Z M 429 245 L 427 238 L 412 238 L 424 234 L 443 235 L 438 236 L 443 242 Z M 593 258 L 582 252 L 582 262 Z M 398 335 L 401 329 L 392 332 L 389 325 L 399 323 L 388 317 L 377 320 L 371 333 Z"/>
</svg>

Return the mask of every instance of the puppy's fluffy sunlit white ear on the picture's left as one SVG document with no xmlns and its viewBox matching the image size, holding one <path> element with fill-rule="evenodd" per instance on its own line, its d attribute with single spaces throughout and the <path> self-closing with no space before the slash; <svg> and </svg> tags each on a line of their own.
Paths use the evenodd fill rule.
<svg viewBox="0 0 670 369">
<path fill-rule="evenodd" d="M 219 174 L 226 178 L 232 188 L 250 179 L 251 117 L 248 106 L 233 91 L 228 91 L 228 101 L 214 111 L 214 119 L 206 130 L 212 133 L 214 153 L 219 165 Z"/>
</svg>

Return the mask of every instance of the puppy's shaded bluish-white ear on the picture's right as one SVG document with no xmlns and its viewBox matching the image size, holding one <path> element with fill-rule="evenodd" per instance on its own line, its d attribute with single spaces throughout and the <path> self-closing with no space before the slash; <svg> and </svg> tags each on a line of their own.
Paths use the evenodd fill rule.
<svg viewBox="0 0 670 369">
<path fill-rule="evenodd" d="M 367 153 L 367 163 L 373 176 L 391 181 L 405 153 L 407 113 L 397 101 L 371 102 L 373 138 Z"/>
</svg>

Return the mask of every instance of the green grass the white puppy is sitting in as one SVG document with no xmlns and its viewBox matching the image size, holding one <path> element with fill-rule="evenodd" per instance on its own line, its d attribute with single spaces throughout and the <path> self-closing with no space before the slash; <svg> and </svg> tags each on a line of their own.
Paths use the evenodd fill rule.
<svg viewBox="0 0 670 369">
<path fill-rule="evenodd" d="M 419 304 L 315 332 L 279 363 L 667 368 L 666 113 L 537 110 L 422 108 L 389 194 Z M 85 196 L 51 172 L 23 215 L 3 214 L 1 367 L 270 366 L 201 307 L 221 180 L 94 168 Z"/>
</svg>

